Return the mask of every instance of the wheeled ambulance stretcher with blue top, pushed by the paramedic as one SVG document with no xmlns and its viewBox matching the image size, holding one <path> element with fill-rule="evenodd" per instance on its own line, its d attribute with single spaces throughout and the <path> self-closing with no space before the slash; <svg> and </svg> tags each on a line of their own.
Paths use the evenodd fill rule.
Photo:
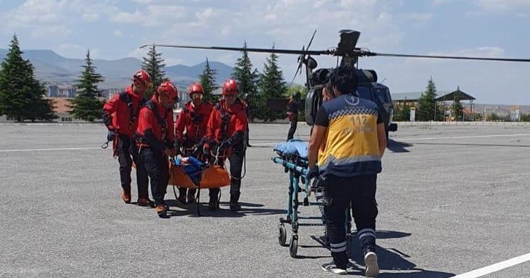
<svg viewBox="0 0 530 278">
<path fill-rule="evenodd" d="M 287 230 L 285 224 L 291 225 L 292 236 L 289 242 L 289 253 L 292 258 L 297 258 L 298 251 L 298 229 L 300 226 L 324 226 L 326 225 L 326 217 L 323 213 L 323 203 L 326 202 L 323 182 L 320 179 L 315 179 L 313 184 L 310 185 L 309 179 L 306 178 L 308 169 L 307 160 L 307 142 L 292 139 L 285 143 L 276 144 L 274 151 L 278 154 L 276 157 L 272 157 L 274 163 L 281 164 L 284 168 L 285 173 L 289 173 L 289 186 L 288 186 L 288 200 L 287 200 L 287 216 L 280 218 L 278 225 L 278 243 L 281 246 L 286 246 L 287 241 Z M 309 202 L 309 197 L 314 192 L 315 201 Z M 302 194 L 303 201 L 299 201 L 299 194 Z M 300 217 L 298 214 L 299 206 L 319 206 L 321 213 L 321 223 L 310 223 L 310 222 L 299 222 L 299 220 L 312 220 L 314 217 Z M 350 209 L 346 212 L 346 223 L 345 229 L 347 235 L 351 234 L 351 217 Z M 328 245 L 326 232 L 324 232 L 324 238 L 326 239 L 324 244 Z M 348 242 L 348 250 L 350 250 L 350 240 Z M 350 253 L 349 251 L 347 252 Z"/>
</svg>

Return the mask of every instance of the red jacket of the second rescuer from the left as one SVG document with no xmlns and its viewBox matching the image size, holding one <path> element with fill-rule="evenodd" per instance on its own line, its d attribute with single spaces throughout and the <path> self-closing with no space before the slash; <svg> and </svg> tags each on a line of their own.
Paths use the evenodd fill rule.
<svg viewBox="0 0 530 278">
<path fill-rule="evenodd" d="M 173 149 L 175 142 L 173 109 L 164 108 L 153 96 L 140 110 L 136 137 L 137 143 L 147 144 L 159 151 Z"/>
</svg>

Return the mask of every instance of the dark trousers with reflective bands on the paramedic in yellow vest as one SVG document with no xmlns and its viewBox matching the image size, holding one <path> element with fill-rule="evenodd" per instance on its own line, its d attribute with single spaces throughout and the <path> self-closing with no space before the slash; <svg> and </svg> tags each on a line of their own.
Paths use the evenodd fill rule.
<svg viewBox="0 0 530 278">
<path fill-rule="evenodd" d="M 376 248 L 376 180 L 377 175 L 342 178 L 334 175 L 326 177 L 326 196 L 332 199 L 330 206 L 324 206 L 326 230 L 335 265 L 346 269 L 346 229 L 345 211 L 350 202 L 352 216 L 357 227 L 357 236 L 362 253 Z"/>
</svg>

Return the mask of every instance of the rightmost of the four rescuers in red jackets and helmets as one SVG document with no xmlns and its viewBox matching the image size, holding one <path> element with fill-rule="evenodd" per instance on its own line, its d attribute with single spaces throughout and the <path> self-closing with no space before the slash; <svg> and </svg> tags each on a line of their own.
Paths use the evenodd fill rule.
<svg viewBox="0 0 530 278">
<path fill-rule="evenodd" d="M 223 99 L 211 112 L 207 127 L 207 138 L 210 144 L 204 144 L 203 152 L 219 156 L 223 154 L 230 160 L 230 210 L 241 209 L 239 202 L 241 187 L 241 170 L 245 156 L 244 135 L 247 129 L 247 108 L 238 98 L 238 83 L 226 80 L 223 84 Z M 219 150 L 219 151 L 218 151 Z M 219 161 L 224 163 L 224 157 Z M 219 206 L 220 189 L 210 189 L 209 209 Z"/>
</svg>

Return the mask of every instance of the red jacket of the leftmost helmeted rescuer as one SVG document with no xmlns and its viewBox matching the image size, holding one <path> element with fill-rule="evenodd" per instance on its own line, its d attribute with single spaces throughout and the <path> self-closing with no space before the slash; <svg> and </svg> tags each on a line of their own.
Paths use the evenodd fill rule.
<svg viewBox="0 0 530 278">
<path fill-rule="evenodd" d="M 108 129 L 132 137 L 138 125 L 138 113 L 144 99 L 132 91 L 132 85 L 115 94 L 103 106 L 103 121 Z"/>
</svg>

